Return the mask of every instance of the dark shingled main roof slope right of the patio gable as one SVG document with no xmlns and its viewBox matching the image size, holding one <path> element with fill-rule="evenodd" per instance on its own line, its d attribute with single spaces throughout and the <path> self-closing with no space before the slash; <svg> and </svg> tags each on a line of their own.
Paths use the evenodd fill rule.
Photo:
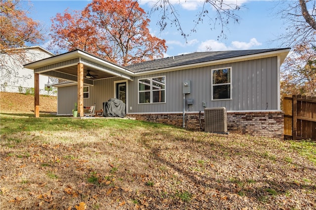
<svg viewBox="0 0 316 210">
<path fill-rule="evenodd" d="M 240 56 L 254 55 L 259 53 L 272 52 L 289 48 L 277 49 L 259 49 L 259 50 L 234 50 L 234 51 L 214 51 L 214 52 L 195 52 L 183 54 L 174 57 L 162 58 L 153 61 L 146 61 L 139 64 L 132 64 L 125 68 L 133 72 L 141 72 L 147 70 L 158 70 L 170 67 L 177 67 L 189 64 L 197 64 L 222 59 L 235 58 Z"/>
</svg>

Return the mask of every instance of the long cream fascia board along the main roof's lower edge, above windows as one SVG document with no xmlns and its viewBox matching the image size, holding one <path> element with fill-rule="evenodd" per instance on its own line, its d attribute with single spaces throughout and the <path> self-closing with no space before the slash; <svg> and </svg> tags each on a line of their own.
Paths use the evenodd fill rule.
<svg viewBox="0 0 316 210">
<path fill-rule="evenodd" d="M 233 63 L 233 62 L 249 61 L 249 60 L 269 58 L 269 57 L 274 57 L 274 56 L 280 56 L 281 58 L 280 62 L 282 63 L 284 59 L 286 58 L 287 54 L 289 53 L 289 51 L 290 49 L 283 49 L 283 50 L 276 50 L 276 51 L 265 52 L 265 53 L 260 53 L 260 54 L 221 59 L 221 60 L 216 60 L 216 61 L 188 64 L 188 65 L 182 65 L 182 66 L 176 66 L 176 67 L 168 67 L 168 68 L 163 68 L 163 69 L 158 69 L 158 70 L 147 70 L 147 71 L 136 72 L 135 76 L 142 76 L 142 75 L 147 75 L 147 74 L 152 74 L 152 73 L 168 72 L 168 71 L 175 71 L 175 70 L 193 69 L 193 68 L 206 67 L 206 66 L 212 66 L 212 65 L 217 65 L 217 64 L 228 64 L 228 63 Z"/>
</svg>

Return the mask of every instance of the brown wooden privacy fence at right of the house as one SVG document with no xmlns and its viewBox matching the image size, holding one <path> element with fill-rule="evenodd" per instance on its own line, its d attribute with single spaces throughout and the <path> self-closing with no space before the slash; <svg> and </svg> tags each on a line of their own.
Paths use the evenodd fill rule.
<svg viewBox="0 0 316 210">
<path fill-rule="evenodd" d="M 316 140 L 316 97 L 286 96 L 283 111 L 284 138 Z"/>
</svg>

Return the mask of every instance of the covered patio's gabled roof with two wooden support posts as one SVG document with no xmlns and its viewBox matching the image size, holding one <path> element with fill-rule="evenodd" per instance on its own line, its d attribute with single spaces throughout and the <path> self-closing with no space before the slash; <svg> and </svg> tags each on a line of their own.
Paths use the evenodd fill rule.
<svg viewBox="0 0 316 210">
<path fill-rule="evenodd" d="M 49 57 L 24 65 L 34 70 L 34 112 L 40 117 L 40 74 L 77 83 L 77 103 L 79 116 L 83 116 L 83 86 L 94 85 L 95 80 L 121 77 L 133 80 L 134 73 L 117 64 L 101 59 L 81 50 Z"/>
</svg>

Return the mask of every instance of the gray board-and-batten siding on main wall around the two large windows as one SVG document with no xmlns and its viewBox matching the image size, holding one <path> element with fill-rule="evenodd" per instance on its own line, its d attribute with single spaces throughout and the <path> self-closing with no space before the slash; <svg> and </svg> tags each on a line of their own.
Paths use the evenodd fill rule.
<svg viewBox="0 0 316 210">
<path fill-rule="evenodd" d="M 232 99 L 211 100 L 211 71 L 232 68 Z M 135 76 L 129 81 L 129 113 L 181 112 L 183 110 L 182 82 L 191 81 L 191 93 L 186 99 L 193 99 L 190 111 L 203 111 L 206 107 L 226 107 L 227 110 L 277 110 L 278 108 L 277 57 L 234 62 L 222 65 L 187 70 L 168 71 L 157 74 Z M 166 103 L 138 104 L 138 79 L 165 76 Z M 186 107 L 187 110 L 188 107 Z"/>
</svg>

